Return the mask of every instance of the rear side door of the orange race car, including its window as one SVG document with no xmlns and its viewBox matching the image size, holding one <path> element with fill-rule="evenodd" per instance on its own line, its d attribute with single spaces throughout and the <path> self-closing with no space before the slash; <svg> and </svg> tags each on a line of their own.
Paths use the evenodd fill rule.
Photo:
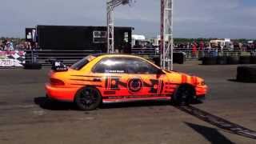
<svg viewBox="0 0 256 144">
<path fill-rule="evenodd" d="M 103 58 L 92 70 L 94 75 L 102 76 L 102 97 L 108 99 L 124 98 L 129 95 L 127 90 L 128 74 L 125 59 Z"/>
</svg>

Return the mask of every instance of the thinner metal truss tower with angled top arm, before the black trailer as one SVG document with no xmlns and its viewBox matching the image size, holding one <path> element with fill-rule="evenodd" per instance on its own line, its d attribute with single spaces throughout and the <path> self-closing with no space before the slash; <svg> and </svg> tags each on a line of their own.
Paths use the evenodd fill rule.
<svg viewBox="0 0 256 144">
<path fill-rule="evenodd" d="M 130 4 L 131 0 L 108 0 L 106 2 L 107 53 L 114 54 L 114 8 Z"/>
</svg>

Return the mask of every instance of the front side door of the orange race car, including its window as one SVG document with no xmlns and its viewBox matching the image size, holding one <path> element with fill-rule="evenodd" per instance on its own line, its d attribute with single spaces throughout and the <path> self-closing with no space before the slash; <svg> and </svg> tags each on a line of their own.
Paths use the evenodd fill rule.
<svg viewBox="0 0 256 144">
<path fill-rule="evenodd" d="M 130 80 L 128 90 L 130 94 L 140 97 L 155 97 L 165 94 L 166 74 L 158 67 L 141 58 L 126 60 L 127 72 Z"/>
</svg>

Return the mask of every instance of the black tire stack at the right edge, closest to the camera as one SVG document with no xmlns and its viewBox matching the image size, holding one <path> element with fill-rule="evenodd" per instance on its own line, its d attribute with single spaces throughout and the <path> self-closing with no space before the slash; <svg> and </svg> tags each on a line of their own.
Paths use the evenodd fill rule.
<svg viewBox="0 0 256 144">
<path fill-rule="evenodd" d="M 238 82 L 256 82 L 256 66 L 238 66 Z"/>
</svg>

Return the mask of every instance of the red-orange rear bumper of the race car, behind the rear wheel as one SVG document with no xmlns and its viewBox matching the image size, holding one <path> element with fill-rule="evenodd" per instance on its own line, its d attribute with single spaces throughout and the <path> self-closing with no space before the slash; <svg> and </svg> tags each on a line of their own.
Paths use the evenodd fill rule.
<svg viewBox="0 0 256 144">
<path fill-rule="evenodd" d="M 64 102 L 74 102 L 74 96 L 78 91 L 78 88 L 51 86 L 49 83 L 46 83 L 45 89 L 48 98 Z"/>
</svg>

